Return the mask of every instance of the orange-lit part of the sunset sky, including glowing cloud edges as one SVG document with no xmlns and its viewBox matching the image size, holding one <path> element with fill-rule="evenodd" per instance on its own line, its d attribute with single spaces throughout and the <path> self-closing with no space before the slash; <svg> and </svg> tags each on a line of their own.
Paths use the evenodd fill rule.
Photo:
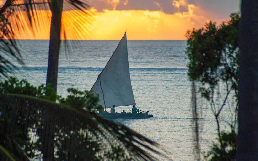
<svg viewBox="0 0 258 161">
<path fill-rule="evenodd" d="M 216 16 L 215 11 L 207 11 L 207 7 L 190 3 L 191 0 L 167 0 L 171 4 L 173 13 L 169 8 L 165 9 L 162 4 L 155 1 L 148 1 L 158 9 L 133 9 L 123 8 L 130 4 L 130 0 L 98 0 L 99 4 L 92 1 L 91 11 L 94 13 L 91 25 L 85 24 L 88 30 L 75 36 L 73 23 L 79 18 L 72 18 L 73 23 L 66 24 L 67 36 L 69 39 L 90 39 L 90 40 L 120 40 L 127 31 L 128 40 L 185 40 L 186 31 L 192 28 L 203 27 L 208 20 L 218 23 L 229 18 L 227 16 Z M 106 4 L 107 6 L 99 5 Z M 94 5 L 96 7 L 94 7 Z M 120 5 L 120 9 L 119 9 Z M 109 7 L 108 7 L 109 6 Z M 151 7 L 150 7 L 151 8 Z M 166 11 L 165 11 L 166 10 Z M 236 10 L 235 12 L 237 12 Z M 64 12 L 63 19 L 69 19 L 69 11 Z M 49 39 L 50 24 L 47 20 L 44 26 L 38 26 L 38 31 L 33 36 L 28 30 L 16 35 L 18 39 Z M 45 28 L 45 29 L 43 29 Z M 70 35 L 69 35 L 70 33 Z"/>
</svg>

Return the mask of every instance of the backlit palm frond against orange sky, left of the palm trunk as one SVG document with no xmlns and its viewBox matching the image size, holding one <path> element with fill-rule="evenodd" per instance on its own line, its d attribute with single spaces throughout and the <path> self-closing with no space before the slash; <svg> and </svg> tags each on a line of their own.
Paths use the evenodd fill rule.
<svg viewBox="0 0 258 161">
<path fill-rule="evenodd" d="M 27 35 L 32 33 L 35 36 L 35 31 L 42 30 L 41 25 L 45 19 L 50 20 L 51 18 L 49 3 L 48 0 L 6 1 L 0 10 L 0 15 L 6 15 L 11 11 L 8 23 L 13 31 L 12 38 L 21 37 L 24 33 Z M 44 12 L 42 13 L 42 11 Z"/>
</svg>

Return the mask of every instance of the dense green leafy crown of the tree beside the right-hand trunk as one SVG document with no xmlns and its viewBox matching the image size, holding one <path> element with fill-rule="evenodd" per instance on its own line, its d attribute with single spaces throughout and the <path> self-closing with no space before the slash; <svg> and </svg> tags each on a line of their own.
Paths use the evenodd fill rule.
<svg viewBox="0 0 258 161">
<path fill-rule="evenodd" d="M 219 27 L 215 22 L 204 28 L 188 30 L 187 51 L 188 76 L 201 82 L 199 91 L 208 100 L 219 81 L 230 82 L 237 95 L 239 70 L 239 13 L 232 13 L 230 20 Z"/>
</svg>

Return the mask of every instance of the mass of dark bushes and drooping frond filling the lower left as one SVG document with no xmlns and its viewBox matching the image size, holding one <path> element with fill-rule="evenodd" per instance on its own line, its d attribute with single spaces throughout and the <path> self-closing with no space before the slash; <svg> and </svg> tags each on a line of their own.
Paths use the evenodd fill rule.
<svg viewBox="0 0 258 161">
<path fill-rule="evenodd" d="M 152 160 L 146 150 L 160 154 L 157 143 L 96 115 L 93 94 L 68 91 L 62 98 L 50 86 L 16 78 L 1 82 L 0 146 L 18 160 Z M 51 101 L 55 97 L 58 102 Z M 0 160 L 7 158 L 0 154 Z"/>
</svg>

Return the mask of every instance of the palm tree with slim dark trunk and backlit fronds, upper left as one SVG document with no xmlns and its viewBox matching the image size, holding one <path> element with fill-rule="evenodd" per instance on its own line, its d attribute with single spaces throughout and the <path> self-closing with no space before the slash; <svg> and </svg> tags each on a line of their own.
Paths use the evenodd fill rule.
<svg viewBox="0 0 258 161">
<path fill-rule="evenodd" d="M 27 28 L 33 33 L 35 33 L 37 29 L 42 30 L 40 27 L 42 24 L 40 24 L 40 22 L 43 24 L 46 23 L 46 18 L 43 15 L 48 14 L 48 16 L 50 16 L 49 11 L 51 11 L 49 61 L 46 84 L 51 83 L 52 87 L 57 90 L 61 35 L 63 39 L 78 39 L 78 35 L 83 35 L 84 31 L 87 30 L 87 24 L 89 24 L 92 19 L 92 13 L 89 9 L 90 6 L 84 0 L 7 0 L 0 11 L 0 15 L 3 17 L 6 17 L 6 15 L 11 16 L 11 18 L 6 19 L 7 23 L 5 24 L 9 27 L 7 35 L 12 39 L 14 38 L 13 29 L 17 30 L 15 33 L 17 35 L 18 32 L 26 32 Z M 66 22 L 62 21 L 62 19 L 64 19 L 64 14 L 62 15 L 63 11 L 69 11 L 69 14 L 65 14 L 67 16 L 65 18 Z M 74 21 L 74 18 L 79 19 L 78 21 Z M 69 37 L 69 34 L 66 33 L 66 24 L 72 24 L 74 27 L 72 37 Z"/>
</svg>

